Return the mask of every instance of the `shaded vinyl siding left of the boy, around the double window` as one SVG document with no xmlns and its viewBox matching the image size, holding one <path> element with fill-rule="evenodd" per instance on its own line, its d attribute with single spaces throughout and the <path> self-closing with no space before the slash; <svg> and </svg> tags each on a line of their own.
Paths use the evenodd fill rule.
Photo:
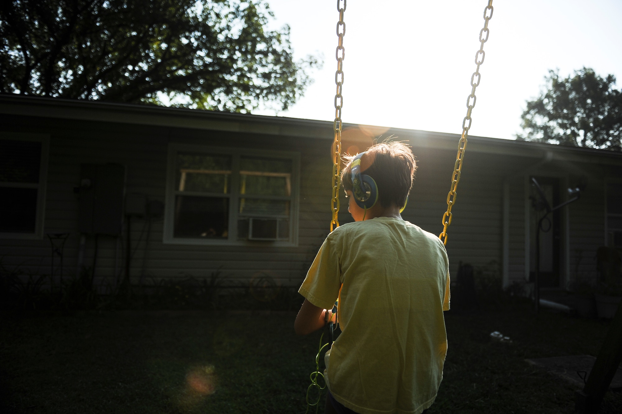
<svg viewBox="0 0 622 414">
<path fill-rule="evenodd" d="M 32 122 L 24 122 L 32 126 Z M 305 266 L 315 256 L 330 219 L 330 141 L 291 140 L 286 137 L 239 133 L 157 129 L 88 122 L 35 122 L 34 129 L 51 134 L 49 192 L 45 232 L 70 232 L 64 249 L 64 275 L 77 269 L 79 234 L 78 198 L 73 186 L 80 180 L 81 163 L 121 163 L 126 166 L 126 193 L 141 193 L 151 200 L 164 201 L 167 144 L 226 145 L 245 148 L 290 150 L 301 155 L 299 246 L 262 247 L 186 246 L 162 244 L 162 219 L 152 223 L 146 245 L 146 220 L 132 218 L 132 281 L 144 278 L 208 277 L 220 269 L 223 277 L 246 280 L 256 272 L 266 272 L 283 284 L 300 283 Z M 23 127 L 18 126 L 20 129 Z M 325 163 L 319 160 L 324 160 Z M 125 227 L 124 227 L 125 228 Z M 142 241 L 136 246 L 137 241 Z M 0 241 L 6 267 L 21 267 L 32 273 L 49 274 L 50 242 Z M 96 284 L 114 284 L 124 269 L 124 237 L 98 237 Z M 93 260 L 95 236 L 86 237 L 84 265 Z M 143 272 L 144 260 L 144 272 Z M 56 258 L 58 264 L 58 258 Z M 58 271 L 58 270 L 56 270 Z"/>
</svg>

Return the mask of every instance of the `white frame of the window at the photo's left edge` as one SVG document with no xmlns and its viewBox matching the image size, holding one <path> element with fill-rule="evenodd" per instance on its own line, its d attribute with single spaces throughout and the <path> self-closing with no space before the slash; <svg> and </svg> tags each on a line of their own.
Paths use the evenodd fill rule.
<svg viewBox="0 0 622 414">
<path fill-rule="evenodd" d="M 47 187 L 47 164 L 50 154 L 50 136 L 48 134 L 22 134 L 21 132 L 0 132 L 0 140 L 41 142 L 41 159 L 39 160 L 38 183 L 0 182 L 0 187 L 37 189 L 37 213 L 35 217 L 35 231 L 32 233 L 0 232 L 0 239 L 43 239 L 45 219 L 45 190 Z"/>
</svg>

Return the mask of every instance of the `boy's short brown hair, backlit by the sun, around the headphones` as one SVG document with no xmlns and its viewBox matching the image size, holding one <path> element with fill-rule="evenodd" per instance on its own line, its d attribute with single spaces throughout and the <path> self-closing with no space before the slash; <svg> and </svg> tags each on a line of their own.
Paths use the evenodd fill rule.
<svg viewBox="0 0 622 414">
<path fill-rule="evenodd" d="M 341 185 L 352 190 L 350 164 L 355 155 L 344 157 L 348 163 L 341 171 Z M 378 185 L 378 201 L 383 207 L 403 206 L 412 188 L 417 163 L 411 149 L 399 141 L 379 142 L 361 157 L 361 173 Z"/>
</svg>

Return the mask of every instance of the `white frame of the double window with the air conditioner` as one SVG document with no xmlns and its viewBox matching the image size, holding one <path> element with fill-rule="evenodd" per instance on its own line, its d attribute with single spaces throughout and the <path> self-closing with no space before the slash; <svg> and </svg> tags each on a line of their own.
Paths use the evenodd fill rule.
<svg viewBox="0 0 622 414">
<path fill-rule="evenodd" d="M 229 198 L 229 228 L 226 239 L 191 239 L 174 237 L 175 224 L 175 168 L 177 153 L 190 152 L 207 155 L 231 155 L 231 191 L 225 196 Z M 289 211 L 289 240 L 259 241 L 238 240 L 238 205 L 239 198 L 239 159 L 240 157 L 266 157 L 276 159 L 288 159 L 292 162 L 291 198 Z M 250 148 L 212 147 L 209 145 L 169 144 L 167 160 L 166 198 L 164 210 L 164 244 L 184 244 L 193 246 L 255 246 L 255 247 L 297 247 L 298 246 L 298 216 L 299 216 L 299 193 L 300 193 L 300 154 L 298 152 L 259 150 Z M 246 198 L 254 198 L 246 196 Z"/>
</svg>

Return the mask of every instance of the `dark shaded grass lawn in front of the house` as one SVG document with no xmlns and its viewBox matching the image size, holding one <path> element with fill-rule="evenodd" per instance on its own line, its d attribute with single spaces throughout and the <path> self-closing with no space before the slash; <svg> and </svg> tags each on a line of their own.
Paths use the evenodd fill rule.
<svg viewBox="0 0 622 414">
<path fill-rule="evenodd" d="M 304 413 L 320 337 L 295 336 L 294 313 L 0 318 L 3 413 Z M 524 359 L 596 355 L 608 329 L 525 306 L 449 313 L 446 323 L 445 374 L 430 414 L 572 413 L 573 386 Z M 493 342 L 491 331 L 513 342 Z M 608 393 L 601 412 L 622 412 L 622 394 Z"/>
</svg>

